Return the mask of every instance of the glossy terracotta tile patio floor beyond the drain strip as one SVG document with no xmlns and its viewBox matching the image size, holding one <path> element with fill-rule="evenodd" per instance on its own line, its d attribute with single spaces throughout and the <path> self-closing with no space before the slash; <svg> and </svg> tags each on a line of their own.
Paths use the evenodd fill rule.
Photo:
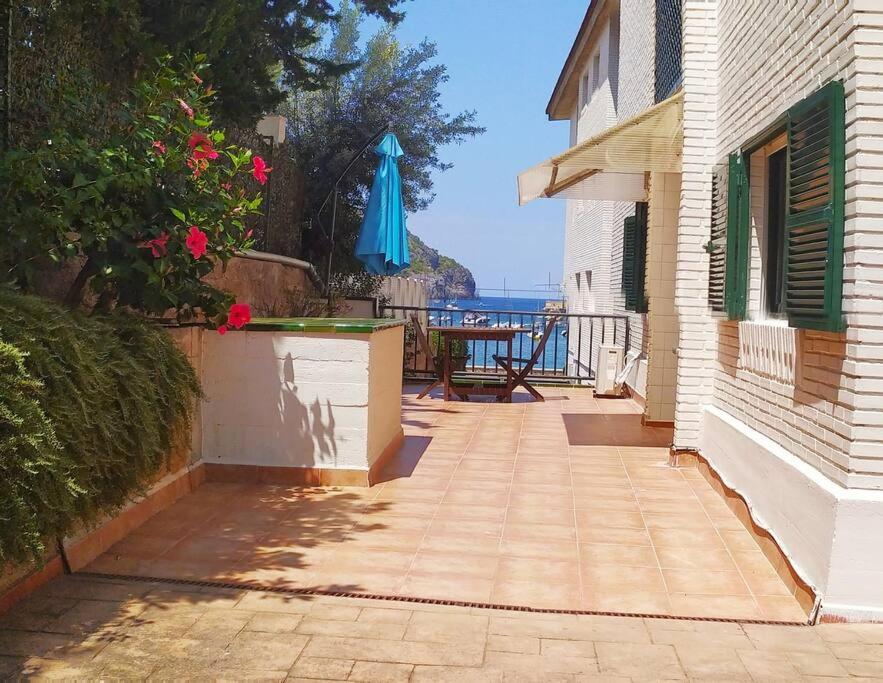
<svg viewBox="0 0 883 683">
<path fill-rule="evenodd" d="M 805 620 L 630 400 L 417 401 L 370 489 L 205 484 L 91 571 L 556 609 Z"/>
</svg>

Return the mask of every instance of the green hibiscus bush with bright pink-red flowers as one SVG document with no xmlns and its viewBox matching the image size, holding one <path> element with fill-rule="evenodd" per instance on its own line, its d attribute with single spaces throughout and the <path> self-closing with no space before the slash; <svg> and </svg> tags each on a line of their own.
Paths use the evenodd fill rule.
<svg viewBox="0 0 883 683">
<path fill-rule="evenodd" d="M 27 286 L 47 259 L 76 260 L 71 303 L 88 283 L 99 308 L 244 324 L 243 305 L 234 313 L 232 297 L 202 278 L 251 246 L 246 219 L 261 196 L 242 181 L 263 184 L 271 169 L 212 127 L 204 66 L 160 61 L 106 140 L 48 131 L 38 149 L 4 155 L 0 279 Z"/>
</svg>

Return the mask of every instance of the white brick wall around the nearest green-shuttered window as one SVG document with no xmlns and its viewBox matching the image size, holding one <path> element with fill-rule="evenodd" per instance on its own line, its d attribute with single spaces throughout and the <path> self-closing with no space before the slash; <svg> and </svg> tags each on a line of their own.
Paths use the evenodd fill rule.
<svg viewBox="0 0 883 683">
<path fill-rule="evenodd" d="M 710 402 L 836 482 L 883 488 L 883 5 L 685 0 L 684 65 L 676 445 L 698 443 L 701 406 Z M 788 386 L 741 369 L 737 326 L 708 313 L 701 245 L 710 173 L 832 79 L 842 79 L 847 94 L 848 329 L 801 332 L 801 373 Z M 712 367 L 713 389 L 706 379 Z"/>
</svg>

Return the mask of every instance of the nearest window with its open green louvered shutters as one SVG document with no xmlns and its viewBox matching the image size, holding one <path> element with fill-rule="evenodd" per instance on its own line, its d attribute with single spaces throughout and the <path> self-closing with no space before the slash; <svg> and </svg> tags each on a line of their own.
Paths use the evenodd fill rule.
<svg viewBox="0 0 883 683">
<path fill-rule="evenodd" d="M 845 96 L 829 83 L 789 109 L 713 179 L 708 298 L 730 319 L 748 317 L 751 210 L 765 194 L 758 230 L 762 314 L 793 327 L 841 330 Z M 784 135 L 781 131 L 784 130 Z M 776 137 L 781 135 L 781 142 Z M 763 165 L 758 165 L 758 154 Z M 760 169 L 763 182 L 751 182 Z M 726 187 L 724 195 L 722 188 Z"/>
</svg>

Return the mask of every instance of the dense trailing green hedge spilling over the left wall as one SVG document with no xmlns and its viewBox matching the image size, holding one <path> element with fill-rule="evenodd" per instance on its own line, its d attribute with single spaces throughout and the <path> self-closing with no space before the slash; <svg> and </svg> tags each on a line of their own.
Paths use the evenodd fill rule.
<svg viewBox="0 0 883 683">
<path fill-rule="evenodd" d="M 143 491 L 199 391 L 155 325 L 0 289 L 0 566 Z"/>
</svg>

